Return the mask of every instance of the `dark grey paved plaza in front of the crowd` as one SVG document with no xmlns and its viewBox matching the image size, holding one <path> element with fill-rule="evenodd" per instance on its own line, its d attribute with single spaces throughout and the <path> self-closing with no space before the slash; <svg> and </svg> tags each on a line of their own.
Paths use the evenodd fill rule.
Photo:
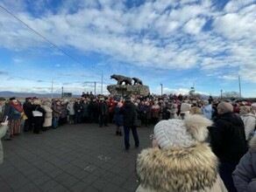
<svg viewBox="0 0 256 192">
<path fill-rule="evenodd" d="M 24 133 L 2 141 L 0 191 L 132 192 L 138 187 L 137 154 L 151 146 L 153 127 L 139 127 L 139 148 L 124 150 L 114 125 L 65 125 L 43 134 Z"/>
</svg>

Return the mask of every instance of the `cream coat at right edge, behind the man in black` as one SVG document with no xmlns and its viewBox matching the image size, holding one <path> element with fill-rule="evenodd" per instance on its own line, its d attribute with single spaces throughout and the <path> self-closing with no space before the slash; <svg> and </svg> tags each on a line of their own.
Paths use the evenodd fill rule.
<svg viewBox="0 0 256 192">
<path fill-rule="evenodd" d="M 255 130 L 256 116 L 252 113 L 243 114 L 240 116 L 245 124 L 245 139 L 250 138 L 250 133 Z"/>
</svg>

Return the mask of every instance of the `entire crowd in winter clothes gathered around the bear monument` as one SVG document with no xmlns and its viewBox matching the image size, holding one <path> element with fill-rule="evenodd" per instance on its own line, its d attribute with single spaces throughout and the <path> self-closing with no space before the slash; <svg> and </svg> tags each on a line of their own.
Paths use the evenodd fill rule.
<svg viewBox="0 0 256 192">
<path fill-rule="evenodd" d="M 139 128 L 152 128 L 153 147 L 142 150 L 137 191 L 256 191 L 256 103 L 200 99 L 181 94 L 74 99 L 0 98 L 4 141 L 25 132 L 42 134 L 65 124 L 114 124 L 130 149 Z M 0 143 L 1 144 L 1 143 Z M 2 146 L 1 146 L 2 147 Z M 3 149 L 0 149 L 3 162 Z"/>
</svg>

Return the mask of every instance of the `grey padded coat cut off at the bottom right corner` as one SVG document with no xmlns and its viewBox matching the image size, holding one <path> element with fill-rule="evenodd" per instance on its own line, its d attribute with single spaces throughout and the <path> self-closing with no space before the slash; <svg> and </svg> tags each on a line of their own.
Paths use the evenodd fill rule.
<svg viewBox="0 0 256 192">
<path fill-rule="evenodd" d="M 240 160 L 232 174 L 238 192 L 254 192 L 256 189 L 256 136 L 249 143 L 250 150 Z"/>
</svg>

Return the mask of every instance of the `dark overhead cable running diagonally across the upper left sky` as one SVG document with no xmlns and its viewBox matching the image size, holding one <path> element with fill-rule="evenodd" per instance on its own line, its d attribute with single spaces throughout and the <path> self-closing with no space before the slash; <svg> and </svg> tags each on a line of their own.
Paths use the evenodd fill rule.
<svg viewBox="0 0 256 192">
<path fill-rule="evenodd" d="M 22 21 L 20 18 L 18 18 L 17 16 L 15 16 L 13 13 L 11 13 L 11 11 L 5 9 L 2 5 L 0 5 L 0 7 L 5 10 L 7 13 L 9 13 L 12 17 L 15 17 L 21 24 L 24 24 L 27 28 L 29 28 L 31 31 L 33 31 L 34 33 L 36 33 L 40 38 L 43 38 L 44 40 L 46 40 L 46 42 L 48 42 L 50 45 L 53 45 L 57 50 L 61 51 L 62 53 L 64 53 L 65 55 L 67 55 L 69 58 L 72 58 L 73 60 L 75 60 L 76 63 L 84 66 L 85 68 L 89 69 L 92 72 L 95 72 L 98 75 L 102 75 L 96 71 L 94 71 L 92 68 L 90 68 L 87 65 L 82 64 L 82 62 L 80 62 L 78 59 L 76 59 L 75 57 L 73 57 L 72 55 L 70 55 L 67 51 L 64 51 L 63 49 L 61 49 L 58 45 L 53 44 L 53 42 L 51 42 L 49 39 L 45 38 L 44 36 L 42 36 L 38 31 L 35 31 L 30 25 L 25 24 L 24 21 Z"/>
</svg>

